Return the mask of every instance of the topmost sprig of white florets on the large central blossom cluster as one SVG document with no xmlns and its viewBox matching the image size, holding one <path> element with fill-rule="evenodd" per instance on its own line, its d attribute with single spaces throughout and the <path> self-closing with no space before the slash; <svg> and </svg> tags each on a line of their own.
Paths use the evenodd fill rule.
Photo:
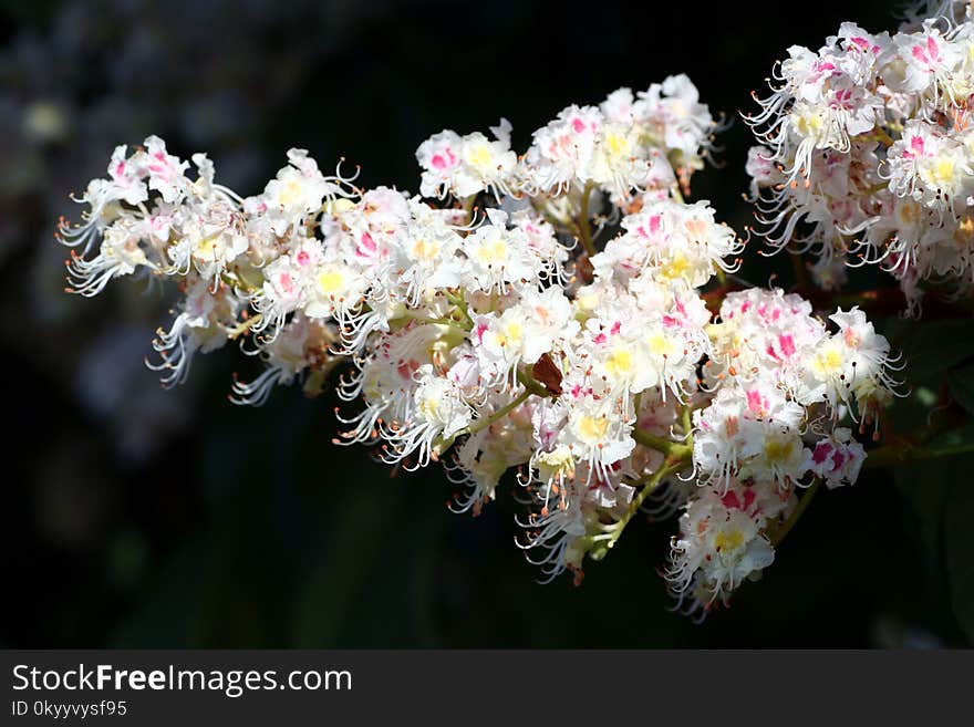
<svg viewBox="0 0 974 727">
<path fill-rule="evenodd" d="M 599 106 L 564 108 L 535 132 L 520 159 L 510 150 L 506 120 L 491 129 L 493 142 L 480 133 L 441 132 L 416 152 L 419 189 L 427 197 L 449 193 L 459 199 L 484 189 L 537 196 L 587 187 L 615 199 L 628 199 L 634 189 L 665 197 L 677 178 L 688 190 L 717 128 L 690 79 L 670 76 L 635 96 L 619 89 Z"/>
</svg>

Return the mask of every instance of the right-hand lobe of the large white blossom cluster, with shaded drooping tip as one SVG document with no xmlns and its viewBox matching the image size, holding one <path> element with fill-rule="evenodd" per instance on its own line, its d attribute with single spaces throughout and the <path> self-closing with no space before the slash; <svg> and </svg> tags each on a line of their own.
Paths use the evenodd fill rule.
<svg viewBox="0 0 974 727">
<path fill-rule="evenodd" d="M 780 290 L 729 293 L 711 326 L 713 396 L 693 414 L 700 485 L 681 517 L 666 573 L 691 611 L 726 600 L 774 559 L 796 489 L 856 481 L 866 457 L 837 422 L 864 424 L 895 385 L 889 344 L 858 309 L 812 316 Z"/>
</svg>

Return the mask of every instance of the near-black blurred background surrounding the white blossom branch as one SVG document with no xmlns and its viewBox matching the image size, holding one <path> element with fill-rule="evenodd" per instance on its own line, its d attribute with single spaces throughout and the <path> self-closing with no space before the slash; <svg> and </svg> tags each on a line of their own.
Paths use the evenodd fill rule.
<svg viewBox="0 0 974 727">
<path fill-rule="evenodd" d="M 820 496 L 763 582 L 695 626 L 655 569 L 675 522 L 633 523 L 584 583 L 537 584 L 508 497 L 449 513 L 437 468 L 390 478 L 330 444 L 330 397 L 226 401 L 252 361 L 197 359 L 160 392 L 142 367 L 166 299 L 116 283 L 65 295 L 51 236 L 115 144 L 162 135 L 259 191 L 291 146 L 362 183 L 418 187 L 413 153 L 504 115 L 515 146 L 570 103 L 687 73 L 714 112 L 749 107 L 794 43 L 842 20 L 895 28 L 888 3 L 3 2 L 0 528 L 7 646 L 963 646 L 940 521 L 960 465 L 888 471 Z M 53 120 L 53 121 L 52 121 Z M 742 230 L 747 128 L 696 199 Z M 788 263 L 777 259 L 777 269 Z M 745 274 L 761 283 L 767 267 Z M 787 278 L 787 274 L 785 276 Z M 905 488 L 905 489 L 904 489 Z M 912 488 L 912 489 L 911 489 Z M 509 488 L 505 492 L 509 495 Z"/>
</svg>

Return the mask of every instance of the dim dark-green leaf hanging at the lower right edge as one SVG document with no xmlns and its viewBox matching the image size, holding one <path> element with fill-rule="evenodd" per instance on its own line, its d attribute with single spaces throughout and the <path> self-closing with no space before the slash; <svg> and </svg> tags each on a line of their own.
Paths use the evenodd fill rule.
<svg viewBox="0 0 974 727">
<path fill-rule="evenodd" d="M 970 463 L 970 460 L 968 460 Z M 954 480 L 944 513 L 944 555 L 954 615 L 974 641 L 974 480 Z"/>
</svg>

